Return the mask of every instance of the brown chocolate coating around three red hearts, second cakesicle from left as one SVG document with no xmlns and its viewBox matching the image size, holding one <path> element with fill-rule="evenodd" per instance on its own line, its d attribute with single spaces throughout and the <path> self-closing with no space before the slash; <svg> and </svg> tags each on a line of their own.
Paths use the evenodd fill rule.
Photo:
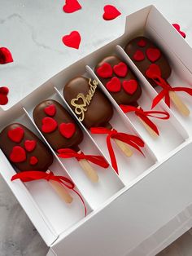
<svg viewBox="0 0 192 256">
<path fill-rule="evenodd" d="M 50 105 L 55 105 L 56 113 L 55 116 L 52 118 L 54 118 L 55 121 L 57 121 L 58 127 L 56 130 L 50 133 L 45 133 L 41 130 L 42 119 L 44 117 L 49 117 L 45 113 L 44 109 L 46 107 L 49 107 Z M 68 113 L 68 111 L 65 108 L 63 108 L 63 106 L 59 104 L 57 101 L 53 99 L 48 99 L 38 104 L 37 107 L 33 110 L 33 118 L 39 130 L 41 130 L 41 133 L 45 136 L 46 140 L 48 141 L 48 143 L 50 143 L 50 146 L 54 148 L 55 151 L 57 151 L 60 148 L 72 148 L 77 151 L 79 150 L 78 145 L 83 140 L 83 132 L 81 128 L 76 124 L 76 121 Z M 66 138 L 59 132 L 59 125 L 62 123 L 75 124 L 76 130 L 71 138 Z"/>
</svg>

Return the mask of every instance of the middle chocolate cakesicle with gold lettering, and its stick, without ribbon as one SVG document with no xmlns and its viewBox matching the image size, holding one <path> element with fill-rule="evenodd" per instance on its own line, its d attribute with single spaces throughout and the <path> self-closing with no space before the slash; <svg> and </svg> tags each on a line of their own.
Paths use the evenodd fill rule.
<svg viewBox="0 0 192 256">
<path fill-rule="evenodd" d="M 87 129 L 103 127 L 114 130 L 109 123 L 113 116 L 111 102 L 99 90 L 96 80 L 75 77 L 64 86 L 63 96 Z M 127 143 L 115 137 L 113 139 L 126 156 L 132 156 L 133 152 Z"/>
</svg>

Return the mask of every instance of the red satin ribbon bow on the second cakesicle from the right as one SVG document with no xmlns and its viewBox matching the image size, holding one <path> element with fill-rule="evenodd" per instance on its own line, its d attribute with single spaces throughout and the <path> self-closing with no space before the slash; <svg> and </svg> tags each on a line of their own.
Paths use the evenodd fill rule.
<svg viewBox="0 0 192 256">
<path fill-rule="evenodd" d="M 154 117 L 164 120 L 170 117 L 169 113 L 165 111 L 143 111 L 142 108 L 136 108 L 128 105 L 120 105 L 120 108 L 123 110 L 124 113 L 134 112 L 137 115 L 137 117 L 140 117 L 142 121 L 145 121 L 145 123 L 148 126 L 150 126 L 151 129 L 154 130 L 157 135 L 159 135 L 159 130 L 157 126 L 155 126 L 155 123 L 152 122 L 148 117 Z"/>
</svg>

